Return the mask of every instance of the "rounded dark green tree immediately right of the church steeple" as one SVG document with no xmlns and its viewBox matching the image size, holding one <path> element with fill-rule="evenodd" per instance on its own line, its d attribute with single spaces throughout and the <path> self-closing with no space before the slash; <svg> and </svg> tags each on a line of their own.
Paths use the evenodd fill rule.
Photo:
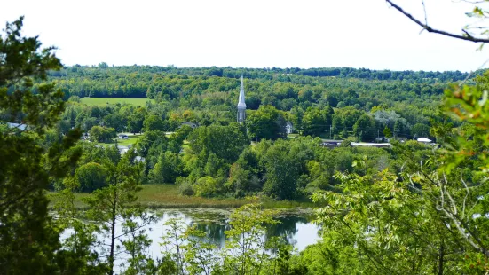
<svg viewBox="0 0 489 275">
<path fill-rule="evenodd" d="M 273 106 L 260 106 L 248 115 L 247 125 L 252 139 L 285 138 L 285 116 Z"/>
</svg>

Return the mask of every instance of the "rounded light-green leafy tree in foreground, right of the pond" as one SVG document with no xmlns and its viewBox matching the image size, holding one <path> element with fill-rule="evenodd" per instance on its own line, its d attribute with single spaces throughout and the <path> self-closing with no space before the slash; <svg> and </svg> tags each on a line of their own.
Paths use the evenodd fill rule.
<svg viewBox="0 0 489 275">
<path fill-rule="evenodd" d="M 365 270 L 389 274 L 407 270 L 418 274 L 429 271 L 443 274 L 443 264 L 446 270 L 454 269 L 448 261 L 455 259 L 448 260 L 447 255 L 456 251 L 460 237 L 446 231 L 444 220 L 437 216 L 435 208 L 423 207 L 422 198 L 407 191 L 395 175 L 384 171 L 375 176 L 336 177 L 342 181 L 339 186 L 343 192 L 317 193 L 314 200 L 329 204 L 322 208 L 320 218 L 328 232 L 325 239 L 335 238 L 338 243 L 348 244 L 349 249 L 341 251 L 337 257 L 346 261 L 351 251 L 356 250 L 362 263 L 361 267 L 352 266 L 359 270 L 337 263 L 342 269 L 347 268 L 348 273 Z M 322 246 L 331 249 L 335 242 L 332 244 Z M 443 262 L 442 268 L 433 267 L 433 263 L 439 261 Z"/>
</svg>

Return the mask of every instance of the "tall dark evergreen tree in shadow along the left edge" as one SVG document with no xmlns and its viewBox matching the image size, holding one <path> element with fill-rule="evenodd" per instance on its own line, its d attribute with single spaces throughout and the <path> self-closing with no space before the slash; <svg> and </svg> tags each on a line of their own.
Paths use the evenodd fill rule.
<svg viewBox="0 0 489 275">
<path fill-rule="evenodd" d="M 57 262 L 68 255 L 57 254 L 59 228 L 48 214 L 45 191 L 50 178 L 64 177 L 78 159 L 78 150 L 67 149 L 80 131 L 40 145 L 64 109 L 61 90 L 43 83 L 61 63 L 54 48 L 41 49 L 37 36 L 21 35 L 22 20 L 7 23 L 0 36 L 0 124 L 28 125 L 0 127 L 0 273 L 56 273 L 63 268 Z"/>
</svg>

